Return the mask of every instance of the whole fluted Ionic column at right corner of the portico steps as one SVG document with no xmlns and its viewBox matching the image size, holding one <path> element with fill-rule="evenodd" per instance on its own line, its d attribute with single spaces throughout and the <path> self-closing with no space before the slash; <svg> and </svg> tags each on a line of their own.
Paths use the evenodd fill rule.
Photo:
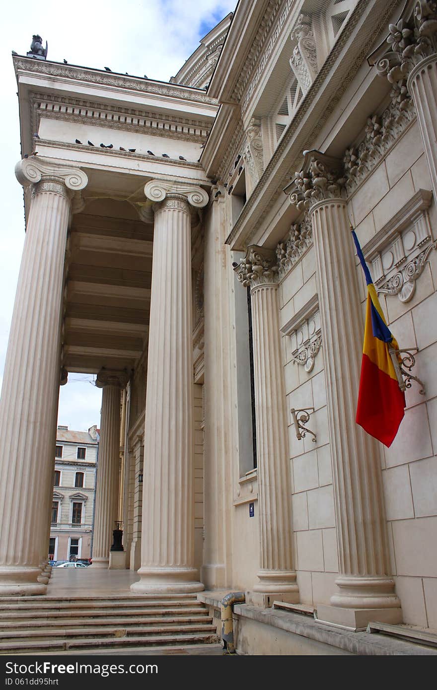
<svg viewBox="0 0 437 690">
<path fill-rule="evenodd" d="M 194 568 L 191 211 L 200 187 L 150 181 L 157 201 L 148 341 L 142 549 L 135 593 L 203 589 Z"/>
</svg>

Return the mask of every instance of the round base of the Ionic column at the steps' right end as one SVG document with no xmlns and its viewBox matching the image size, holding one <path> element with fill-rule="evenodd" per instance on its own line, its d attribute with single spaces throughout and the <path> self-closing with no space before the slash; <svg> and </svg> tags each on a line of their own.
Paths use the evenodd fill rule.
<svg viewBox="0 0 437 690">
<path fill-rule="evenodd" d="M 192 568 L 140 568 L 140 580 L 130 585 L 135 594 L 191 594 L 204 590 Z"/>
</svg>

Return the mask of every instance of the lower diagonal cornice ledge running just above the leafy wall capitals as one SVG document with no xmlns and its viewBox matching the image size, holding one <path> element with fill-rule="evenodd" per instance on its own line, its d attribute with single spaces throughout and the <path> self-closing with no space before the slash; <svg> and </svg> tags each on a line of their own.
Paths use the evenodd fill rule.
<svg viewBox="0 0 437 690">
<path fill-rule="evenodd" d="M 262 224 L 265 209 L 282 195 L 283 188 L 289 184 L 291 179 L 291 170 L 301 166 L 302 149 L 306 148 L 305 144 L 315 140 L 318 132 L 322 130 L 325 122 L 331 116 L 338 101 L 355 76 L 356 70 L 360 68 L 367 57 L 369 47 L 375 39 L 376 29 L 389 20 L 396 2 L 397 0 L 389 2 L 376 0 L 369 8 L 369 0 L 358 1 L 353 12 L 351 12 L 347 25 L 342 30 L 317 77 L 315 77 L 307 95 L 302 99 L 300 108 L 285 131 L 257 186 L 246 201 L 231 233 L 226 238 L 226 244 L 239 249 L 251 244 L 255 233 Z M 380 12 L 375 7 L 378 5 L 381 6 Z M 366 13 L 367 18 L 362 28 L 363 36 L 356 53 L 351 55 L 352 62 L 339 60 L 342 50 Z M 375 17 L 373 22 L 371 21 L 372 17 Z M 353 45 L 350 50 L 353 49 Z M 351 64 L 355 69 L 351 69 Z M 325 85 L 329 75 L 331 75 L 331 79 Z M 320 99 L 323 86 L 326 86 L 327 95 L 324 95 L 324 99 Z M 311 108 L 317 108 L 320 112 L 311 117 Z M 253 217 L 251 217 L 250 222 L 247 222 L 252 213 Z M 238 240 L 235 242 L 237 238 Z"/>
</svg>

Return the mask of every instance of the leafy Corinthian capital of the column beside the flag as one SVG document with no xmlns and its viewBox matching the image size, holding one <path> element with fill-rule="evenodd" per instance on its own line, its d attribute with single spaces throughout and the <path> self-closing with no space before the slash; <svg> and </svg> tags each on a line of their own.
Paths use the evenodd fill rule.
<svg viewBox="0 0 437 690">
<path fill-rule="evenodd" d="M 346 177 L 340 158 L 320 151 L 305 151 L 304 164 L 294 181 L 284 189 L 300 211 L 311 210 L 319 201 L 346 199 Z"/>
</svg>

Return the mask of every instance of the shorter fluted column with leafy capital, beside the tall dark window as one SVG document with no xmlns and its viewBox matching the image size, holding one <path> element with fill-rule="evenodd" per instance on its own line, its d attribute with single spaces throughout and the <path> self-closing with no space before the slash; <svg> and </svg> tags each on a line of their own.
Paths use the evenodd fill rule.
<svg viewBox="0 0 437 690">
<path fill-rule="evenodd" d="M 275 261 L 273 250 L 251 246 L 235 268 L 243 286 L 251 288 L 252 303 L 261 541 L 260 571 L 251 600 L 267 607 L 274 599 L 299 600 L 292 564 L 290 460 Z"/>
</svg>

